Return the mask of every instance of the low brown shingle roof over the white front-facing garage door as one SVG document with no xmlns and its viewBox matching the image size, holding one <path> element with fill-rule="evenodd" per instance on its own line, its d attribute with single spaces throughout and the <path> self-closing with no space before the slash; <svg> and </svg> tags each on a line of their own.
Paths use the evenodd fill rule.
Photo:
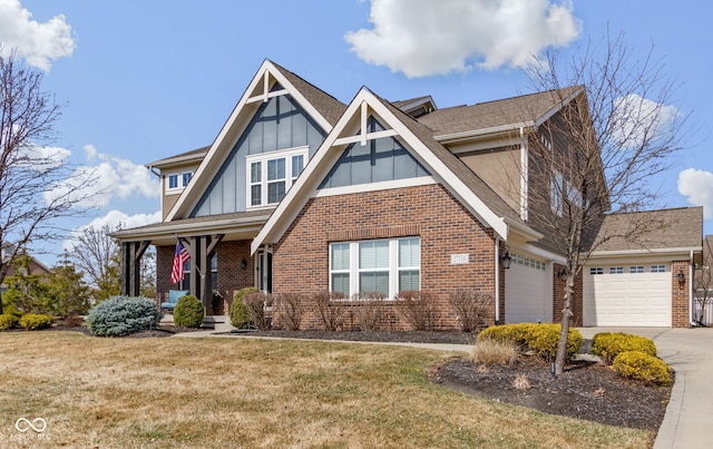
<svg viewBox="0 0 713 449">
<path fill-rule="evenodd" d="M 595 252 L 701 252 L 703 208 L 609 214 L 604 216 L 596 237 Z"/>
</svg>

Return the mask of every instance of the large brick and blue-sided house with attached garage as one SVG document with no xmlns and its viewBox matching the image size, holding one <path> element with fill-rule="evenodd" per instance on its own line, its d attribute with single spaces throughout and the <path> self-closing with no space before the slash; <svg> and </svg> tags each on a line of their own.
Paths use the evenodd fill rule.
<svg viewBox="0 0 713 449">
<path fill-rule="evenodd" d="M 153 244 L 157 291 L 188 290 L 208 314 L 226 313 L 244 286 L 388 299 L 422 290 L 440 301 L 439 325 L 452 329 L 449 294 L 478 289 L 494 301 L 488 323 L 558 321 L 566 261 L 537 226 L 538 216 L 556 213 L 555 195 L 553 205 L 528 203 L 530 189 L 550 188 L 535 180 L 530 146 L 566 148 L 567 136 L 539 130 L 584 95 L 570 87 L 438 109 L 430 97 L 389 103 L 362 88 L 343 105 L 265 61 L 213 145 L 147 165 L 162 179 L 164 219 L 113 234 L 123 245 L 124 291 L 138 294 L 140 255 Z M 687 325 L 702 212 L 655 213 L 683 219 L 685 238 L 666 234 L 635 250 L 607 242 L 577 282 L 575 324 L 618 323 L 612 302 L 631 302 L 635 283 L 605 294 L 599 281 L 609 276 L 588 277 L 590 269 L 636 266 L 638 274 L 643 266 L 642 279 L 667 280 L 657 293 L 665 311 L 652 316 L 632 302 L 624 321 Z M 621 218 L 607 216 L 603 230 Z M 680 231 L 675 224 L 671 233 Z M 184 282 L 172 284 L 177 238 L 192 257 Z M 388 321 L 406 326 L 398 314 Z M 319 322 L 307 313 L 304 324 Z"/>
</svg>

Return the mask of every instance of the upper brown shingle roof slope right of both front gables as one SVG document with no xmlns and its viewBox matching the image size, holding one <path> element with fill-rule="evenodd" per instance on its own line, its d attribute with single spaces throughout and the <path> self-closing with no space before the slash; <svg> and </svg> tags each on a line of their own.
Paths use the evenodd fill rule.
<svg viewBox="0 0 713 449">
<path fill-rule="evenodd" d="M 580 86 L 529 94 L 520 97 L 438 109 L 419 117 L 437 140 L 448 140 L 461 134 L 491 134 L 537 127 L 563 105 L 584 92 Z"/>
</svg>

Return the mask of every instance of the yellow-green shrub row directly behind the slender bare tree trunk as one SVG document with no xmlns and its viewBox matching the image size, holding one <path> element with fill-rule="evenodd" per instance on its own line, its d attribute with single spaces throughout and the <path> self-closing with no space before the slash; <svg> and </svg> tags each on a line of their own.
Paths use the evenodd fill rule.
<svg viewBox="0 0 713 449">
<path fill-rule="evenodd" d="M 524 350 L 534 351 L 538 357 L 549 360 L 557 353 L 560 332 L 560 324 L 519 323 L 494 325 L 480 332 L 478 341 L 514 342 Z M 570 328 L 567 340 L 567 357 L 575 354 L 582 343 L 584 343 L 582 333 Z"/>
</svg>

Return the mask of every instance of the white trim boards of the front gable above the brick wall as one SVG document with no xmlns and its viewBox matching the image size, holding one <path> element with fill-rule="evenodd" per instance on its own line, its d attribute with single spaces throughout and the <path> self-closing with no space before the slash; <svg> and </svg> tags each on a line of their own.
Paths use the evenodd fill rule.
<svg viewBox="0 0 713 449">
<path fill-rule="evenodd" d="M 279 241 L 307 199 L 316 196 L 316 187 L 320 183 L 319 175 L 326 173 L 342 154 L 343 145 L 338 145 L 338 141 L 345 141 L 340 140 L 340 138 L 345 138 L 346 136 L 341 134 L 345 131 L 350 123 L 353 123 L 354 117 L 359 117 L 361 129 L 365 130 L 364 117 L 368 108 L 371 108 L 382 120 L 382 125 L 389 126 L 404 144 L 409 145 L 411 150 L 420 158 L 420 162 L 431 172 L 434 179 L 443 184 L 486 226 L 494 228 L 498 236 L 507 240 L 508 225 L 505 219 L 487 207 L 377 96 L 367 88 L 362 88 L 253 241 L 251 245 L 253 253 L 264 243 Z M 361 133 L 359 137 L 358 141 L 364 141 L 369 138 L 365 133 Z"/>
</svg>

